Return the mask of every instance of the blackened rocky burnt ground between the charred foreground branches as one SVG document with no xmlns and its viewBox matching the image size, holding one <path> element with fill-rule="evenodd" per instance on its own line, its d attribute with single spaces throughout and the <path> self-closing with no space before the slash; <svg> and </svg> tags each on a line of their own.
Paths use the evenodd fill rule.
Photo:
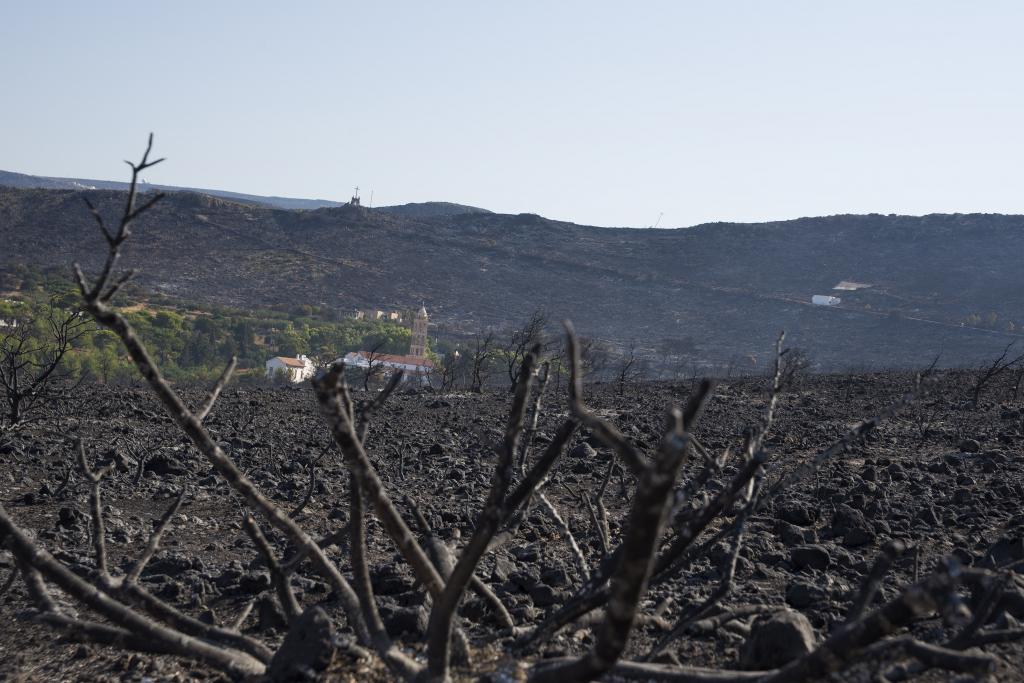
<svg viewBox="0 0 1024 683">
<path fill-rule="evenodd" d="M 893 597 L 899 586 L 912 580 L 915 562 L 924 575 L 950 555 L 961 562 L 985 563 L 993 552 L 1009 553 L 1011 558 L 1024 552 L 1024 401 L 1013 399 L 1012 387 L 999 386 L 975 409 L 965 392 L 969 381 L 966 373 L 941 375 L 923 399 L 754 516 L 739 556 L 735 589 L 725 604 L 788 604 L 810 620 L 820 640 L 842 623 L 852 595 L 890 539 L 904 540 L 916 550 L 895 564 L 881 599 Z M 911 383 L 912 377 L 905 374 L 805 378 L 781 396 L 778 419 L 767 439 L 768 479 L 812 458 L 859 419 L 898 399 Z M 738 450 L 744 428 L 761 418 L 767 386 L 765 378 L 722 382 L 696 430 L 702 443 L 712 452 Z M 548 388 L 538 444 L 565 416 L 564 389 Z M 616 387 L 594 386 L 586 393 L 592 408 L 652 454 L 666 407 L 685 401 L 688 386 L 631 385 L 623 393 Z M 184 394 L 193 404 L 202 396 L 199 391 Z M 494 444 L 501 437 L 509 403 L 509 395 L 500 391 L 442 395 L 420 390 L 392 396 L 377 416 L 367 444 L 411 523 L 412 515 L 400 503 L 407 495 L 449 544 L 469 538 L 489 485 Z M 257 485 L 286 509 L 305 498 L 308 464 L 316 460 L 312 500 L 299 517 L 314 537 L 344 527 L 347 473 L 308 387 L 229 389 L 206 424 Z M 272 596 L 272 589 L 263 562 L 242 530 L 239 500 L 142 388 L 90 387 L 76 402 L 54 409 L 53 415 L 13 440 L 0 441 L 4 466 L 0 498 L 19 525 L 34 529 L 38 541 L 72 568 L 81 573 L 91 569 L 88 487 L 74 471 L 68 442 L 72 436 L 84 439 L 92 462 L 120 463 L 103 483 L 113 567 L 137 556 L 154 520 L 183 488 L 185 504 L 144 572 L 144 585 L 185 611 L 222 624 L 233 621 L 256 598 L 258 606 L 244 630 L 271 644 L 281 641 L 284 631 L 275 623 L 276 614 L 261 598 Z M 140 456 L 145 464 L 136 479 Z M 601 557 L 600 544 L 577 495 L 599 486 L 611 458 L 583 431 L 546 488 L 592 567 Z M 684 481 L 698 465 L 687 466 Z M 69 468 L 72 474 L 67 477 Z M 724 475 L 733 471 L 726 466 Z M 621 532 L 634 483 L 629 475 L 616 474 L 607 487 L 604 500 L 613 539 Z M 718 488 L 717 483 L 710 486 L 711 493 Z M 855 513 L 862 513 L 865 523 L 851 524 L 851 518 L 859 519 Z M 717 520 L 711 531 L 729 522 Z M 858 530 L 851 531 L 852 526 Z M 670 599 L 663 615 L 673 622 L 688 605 L 707 597 L 718 586 L 729 540 L 726 537 L 674 582 L 652 590 L 645 610 L 664 607 Z M 281 538 L 273 541 L 281 553 L 287 553 Z M 404 631 L 403 642 L 422 649 L 423 594 L 376 521 L 370 522 L 369 542 L 373 583 L 385 622 L 392 635 Z M 797 561 L 795 549 L 806 546 L 817 550 Z M 346 548 L 334 548 L 330 554 L 348 570 Z M 0 582 L 11 567 L 10 555 L 0 551 Z M 477 574 L 521 626 L 538 623 L 581 583 L 571 553 L 541 510 L 530 514 L 514 541 L 485 557 Z M 306 568 L 294 585 L 303 605 L 323 605 L 344 631 L 340 605 L 324 582 Z M 462 614 L 476 645 L 496 631 L 473 596 L 464 602 Z M 32 622 L 31 615 L 31 604 L 17 581 L 0 597 L 0 680 L 222 679 L 217 672 L 186 660 L 69 642 Z M 1012 626 L 1015 617 L 1024 615 L 996 616 L 1006 628 L 1008 620 Z M 749 626 L 750 620 L 714 634 L 691 633 L 670 647 L 668 656 L 689 665 L 736 668 Z M 953 633 L 949 628 L 935 617 L 915 624 L 912 632 L 943 642 Z M 660 634 L 653 624 L 638 627 L 629 654 L 642 654 Z M 578 653 L 592 642 L 589 628 L 569 627 L 546 641 L 537 656 Z M 1021 643 L 988 646 L 986 651 L 1000 658 L 998 680 L 1019 679 L 1024 671 Z M 485 651 L 478 656 L 487 658 Z M 872 667 L 861 665 L 843 678 L 869 680 L 873 673 Z M 339 653 L 326 678 L 386 680 L 387 676 L 376 665 Z M 923 678 L 951 677 L 933 672 Z"/>
</svg>

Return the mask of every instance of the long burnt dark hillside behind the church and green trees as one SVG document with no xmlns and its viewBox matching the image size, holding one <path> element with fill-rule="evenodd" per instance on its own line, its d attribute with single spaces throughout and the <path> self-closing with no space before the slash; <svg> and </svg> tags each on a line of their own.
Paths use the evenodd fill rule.
<svg viewBox="0 0 1024 683">
<path fill-rule="evenodd" d="M 101 245 L 82 194 L 0 188 L 0 268 L 95 266 Z M 89 197 L 112 216 L 122 199 Z M 691 342 L 690 360 L 741 359 L 751 371 L 781 329 L 823 369 L 991 357 L 1024 324 L 1022 254 L 1024 216 L 628 229 L 534 214 L 289 211 L 176 193 L 138 223 L 125 264 L 154 291 L 236 306 L 423 302 L 437 329 L 464 333 L 544 307 L 584 334 L 642 340 L 649 352 Z M 841 281 L 870 287 L 833 291 Z M 843 303 L 812 306 L 813 294 Z"/>
</svg>

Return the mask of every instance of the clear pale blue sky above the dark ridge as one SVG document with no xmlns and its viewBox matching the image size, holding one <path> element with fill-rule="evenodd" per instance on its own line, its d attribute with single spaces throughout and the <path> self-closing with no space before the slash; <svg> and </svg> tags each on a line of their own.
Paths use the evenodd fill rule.
<svg viewBox="0 0 1024 683">
<path fill-rule="evenodd" d="M 0 0 L 0 169 L 678 227 L 1024 213 L 1024 3 Z"/>
</svg>

